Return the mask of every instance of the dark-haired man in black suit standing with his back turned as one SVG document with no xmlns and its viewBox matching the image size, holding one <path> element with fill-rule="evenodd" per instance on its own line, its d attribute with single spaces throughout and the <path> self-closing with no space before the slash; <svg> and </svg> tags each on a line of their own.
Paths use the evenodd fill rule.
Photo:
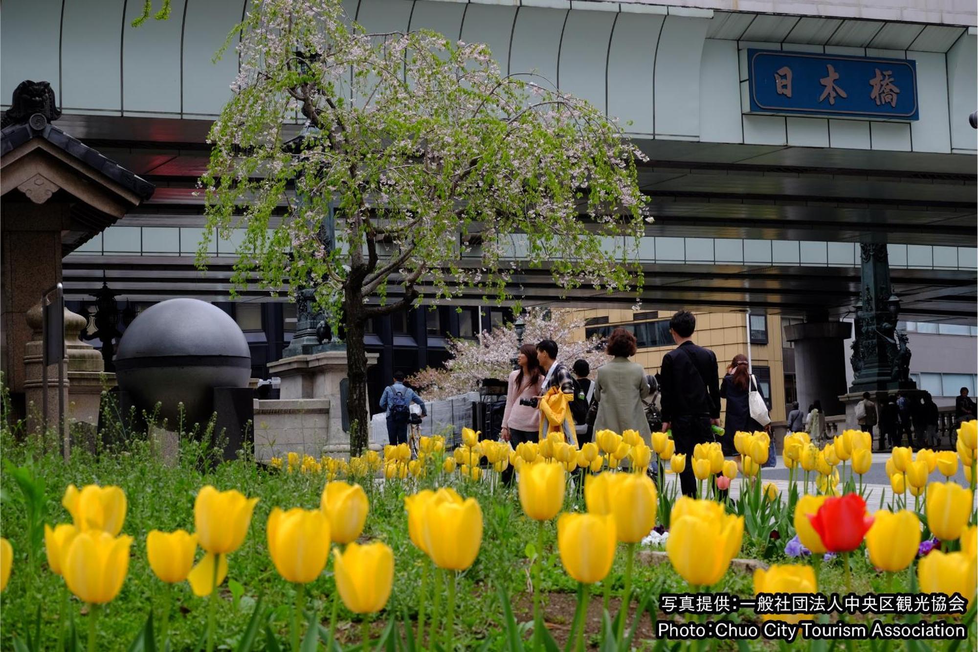
<svg viewBox="0 0 978 652">
<path fill-rule="evenodd" d="M 692 475 L 692 449 L 710 442 L 710 425 L 720 425 L 720 379 L 717 356 L 710 349 L 692 343 L 696 318 L 680 310 L 669 320 L 669 331 L 678 345 L 662 358 L 659 390 L 662 393 L 662 432 L 672 428 L 676 452 L 686 455 L 686 469 L 680 474 L 684 495 L 696 495 Z"/>
</svg>

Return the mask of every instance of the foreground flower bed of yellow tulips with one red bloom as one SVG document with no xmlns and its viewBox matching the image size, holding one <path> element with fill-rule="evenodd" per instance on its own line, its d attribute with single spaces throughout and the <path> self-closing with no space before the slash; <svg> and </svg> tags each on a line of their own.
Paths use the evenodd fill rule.
<svg viewBox="0 0 978 652">
<path fill-rule="evenodd" d="M 957 451 L 971 469 L 973 429 L 962 429 Z M 973 598 L 970 489 L 926 484 L 946 470 L 937 456 L 931 466 L 927 452 L 897 450 L 888 462 L 895 492 L 874 497 L 880 511 L 867 507 L 854 477 L 865 473 L 855 468 L 864 435 L 848 432 L 823 449 L 791 436 L 784 459 L 798 477 L 785 494 L 764 484 L 763 433 L 738 435 L 739 467 L 718 458 L 717 446 L 697 446 L 689 462 L 701 499 L 693 500 L 677 497 L 671 472 L 687 460 L 660 434 L 651 449 L 633 432 L 605 431 L 581 449 L 552 435 L 511 450 L 467 431 L 453 451 L 424 439 L 414 459 L 405 445 L 269 466 L 246 455 L 216 464 L 205 443 L 187 440 L 167 466 L 144 440 L 78 449 L 66 464 L 4 432 L 0 649 L 673 650 L 684 643 L 656 638 L 655 623 L 684 617 L 664 613 L 663 593 Z M 660 488 L 629 471 L 649 460 Z M 518 480 L 507 486 L 510 466 Z M 722 492 L 732 483 L 736 500 Z M 921 483 L 911 495 L 918 509 L 905 509 Z M 666 535 L 664 546 L 647 545 Z M 822 617 L 877 618 L 964 623 L 969 640 L 913 639 L 907 648 L 974 649 L 973 607 L 946 617 Z M 750 609 L 685 616 L 707 619 L 762 622 Z M 827 649 L 801 638 L 791 645 Z M 882 650 L 880 641 L 847 645 Z"/>
</svg>

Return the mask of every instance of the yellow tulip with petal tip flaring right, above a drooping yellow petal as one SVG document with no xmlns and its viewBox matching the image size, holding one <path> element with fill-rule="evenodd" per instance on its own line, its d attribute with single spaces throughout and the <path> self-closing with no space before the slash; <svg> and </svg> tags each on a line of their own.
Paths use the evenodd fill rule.
<svg viewBox="0 0 978 652">
<path fill-rule="evenodd" d="M 214 554 L 234 552 L 244 542 L 258 498 L 237 489 L 218 491 L 207 485 L 194 502 L 194 524 L 200 547 Z"/>
</svg>

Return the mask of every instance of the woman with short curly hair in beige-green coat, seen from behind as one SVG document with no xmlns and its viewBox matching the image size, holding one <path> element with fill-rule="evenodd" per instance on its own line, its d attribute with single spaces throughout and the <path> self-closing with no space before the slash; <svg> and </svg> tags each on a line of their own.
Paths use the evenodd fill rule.
<svg viewBox="0 0 978 652">
<path fill-rule="evenodd" d="M 624 328 L 616 328 L 608 338 L 604 352 L 612 356 L 610 362 L 598 369 L 598 416 L 595 433 L 612 430 L 619 435 L 624 430 L 637 430 L 645 443 L 651 446 L 651 433 L 645 419 L 642 399 L 649 394 L 645 369 L 637 362 L 630 362 L 637 349 L 635 336 Z"/>
</svg>

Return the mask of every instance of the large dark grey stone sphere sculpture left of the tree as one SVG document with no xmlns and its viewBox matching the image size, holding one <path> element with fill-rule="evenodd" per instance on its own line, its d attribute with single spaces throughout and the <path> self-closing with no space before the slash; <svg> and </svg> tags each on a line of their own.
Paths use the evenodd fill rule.
<svg viewBox="0 0 978 652">
<path fill-rule="evenodd" d="M 205 424 L 212 414 L 213 389 L 247 387 L 251 354 L 244 333 L 219 307 L 197 299 L 171 299 L 144 310 L 126 328 L 115 354 L 119 389 L 137 409 L 158 416 L 177 430 Z"/>
</svg>

